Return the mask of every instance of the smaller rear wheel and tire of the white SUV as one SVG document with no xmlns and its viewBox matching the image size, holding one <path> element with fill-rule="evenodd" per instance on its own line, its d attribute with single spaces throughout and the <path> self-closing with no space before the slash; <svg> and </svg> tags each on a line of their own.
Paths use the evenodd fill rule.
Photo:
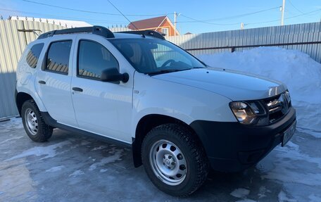
<svg viewBox="0 0 321 202">
<path fill-rule="evenodd" d="M 21 117 L 23 119 L 25 132 L 30 139 L 42 142 L 51 137 L 53 128 L 46 125 L 37 104 L 33 100 L 28 100 L 23 103 Z"/>
</svg>

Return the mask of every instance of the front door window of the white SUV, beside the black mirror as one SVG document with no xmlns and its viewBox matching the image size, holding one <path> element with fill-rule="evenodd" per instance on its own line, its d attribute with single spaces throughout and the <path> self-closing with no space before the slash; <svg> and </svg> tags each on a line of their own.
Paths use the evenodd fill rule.
<svg viewBox="0 0 321 202">
<path fill-rule="evenodd" d="M 81 40 L 78 47 L 78 72 L 81 77 L 99 80 L 101 71 L 118 68 L 118 61 L 103 45 Z"/>
</svg>

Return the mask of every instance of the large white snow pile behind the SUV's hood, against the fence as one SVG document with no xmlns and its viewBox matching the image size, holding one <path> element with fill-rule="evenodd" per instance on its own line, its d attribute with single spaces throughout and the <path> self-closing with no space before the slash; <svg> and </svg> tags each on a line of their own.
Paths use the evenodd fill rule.
<svg viewBox="0 0 321 202">
<path fill-rule="evenodd" d="M 321 137 L 321 64 L 306 53 L 278 47 L 197 56 L 207 65 L 250 72 L 287 84 L 298 129 Z"/>
</svg>

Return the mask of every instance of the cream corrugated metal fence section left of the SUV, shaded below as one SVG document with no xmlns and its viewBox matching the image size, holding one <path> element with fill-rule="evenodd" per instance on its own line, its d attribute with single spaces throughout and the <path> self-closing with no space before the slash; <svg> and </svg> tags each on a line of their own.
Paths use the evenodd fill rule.
<svg viewBox="0 0 321 202">
<path fill-rule="evenodd" d="M 18 114 L 14 99 L 15 69 L 27 44 L 37 39 L 37 34 L 63 28 L 49 23 L 0 20 L 0 118 Z"/>
</svg>

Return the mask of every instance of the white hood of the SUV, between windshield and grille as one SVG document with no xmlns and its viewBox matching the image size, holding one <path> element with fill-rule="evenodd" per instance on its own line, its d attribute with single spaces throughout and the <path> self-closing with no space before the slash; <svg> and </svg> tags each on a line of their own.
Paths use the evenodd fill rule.
<svg viewBox="0 0 321 202">
<path fill-rule="evenodd" d="M 152 77 L 212 91 L 233 101 L 265 99 L 287 89 L 281 82 L 219 68 L 194 68 Z"/>
</svg>

